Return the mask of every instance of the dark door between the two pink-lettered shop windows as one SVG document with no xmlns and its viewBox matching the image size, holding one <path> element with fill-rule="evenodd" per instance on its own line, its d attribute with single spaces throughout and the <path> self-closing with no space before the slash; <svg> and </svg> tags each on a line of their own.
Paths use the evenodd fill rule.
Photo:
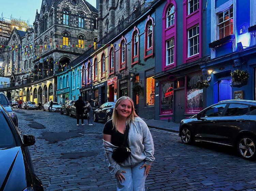
<svg viewBox="0 0 256 191">
<path fill-rule="evenodd" d="M 185 113 L 185 91 L 184 89 L 175 90 L 174 92 L 175 110 L 174 110 L 174 121 L 180 122 L 184 119 Z"/>
</svg>

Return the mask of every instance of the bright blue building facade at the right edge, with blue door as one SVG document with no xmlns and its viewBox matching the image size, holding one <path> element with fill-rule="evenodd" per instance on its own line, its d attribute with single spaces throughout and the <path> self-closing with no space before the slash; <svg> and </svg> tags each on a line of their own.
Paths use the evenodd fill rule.
<svg viewBox="0 0 256 191">
<path fill-rule="evenodd" d="M 227 99 L 255 100 L 255 1 L 211 0 L 207 9 L 210 61 L 201 64 L 209 81 L 207 106 Z M 246 71 L 249 79 L 232 80 Z"/>
</svg>

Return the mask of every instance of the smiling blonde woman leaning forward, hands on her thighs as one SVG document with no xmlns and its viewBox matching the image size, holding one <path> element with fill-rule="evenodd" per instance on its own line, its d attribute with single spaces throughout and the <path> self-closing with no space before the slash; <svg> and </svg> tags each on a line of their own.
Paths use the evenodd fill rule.
<svg viewBox="0 0 256 191">
<path fill-rule="evenodd" d="M 117 179 L 117 191 L 144 191 L 155 159 L 154 144 L 147 124 L 136 115 L 130 97 L 117 100 L 112 119 L 104 126 L 103 144 L 110 174 Z"/>
</svg>

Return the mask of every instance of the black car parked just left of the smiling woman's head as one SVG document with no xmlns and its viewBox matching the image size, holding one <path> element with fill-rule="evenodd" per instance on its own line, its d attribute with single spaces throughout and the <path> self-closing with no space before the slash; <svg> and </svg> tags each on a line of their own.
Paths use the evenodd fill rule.
<svg viewBox="0 0 256 191">
<path fill-rule="evenodd" d="M 102 104 L 99 109 L 96 109 L 93 112 L 93 121 L 97 122 L 98 120 L 110 120 L 114 111 L 115 104 L 115 102 L 106 102 Z"/>
</svg>

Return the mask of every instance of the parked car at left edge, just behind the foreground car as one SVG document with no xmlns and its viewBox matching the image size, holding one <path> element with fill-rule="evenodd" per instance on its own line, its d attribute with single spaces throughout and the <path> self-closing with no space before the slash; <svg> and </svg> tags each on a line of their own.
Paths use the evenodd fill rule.
<svg viewBox="0 0 256 191">
<path fill-rule="evenodd" d="M 14 124 L 18 127 L 18 117 L 12 108 L 13 106 L 16 106 L 16 103 L 12 103 L 12 101 L 9 101 L 4 93 L 0 92 L 0 104 L 9 113 Z"/>
</svg>

